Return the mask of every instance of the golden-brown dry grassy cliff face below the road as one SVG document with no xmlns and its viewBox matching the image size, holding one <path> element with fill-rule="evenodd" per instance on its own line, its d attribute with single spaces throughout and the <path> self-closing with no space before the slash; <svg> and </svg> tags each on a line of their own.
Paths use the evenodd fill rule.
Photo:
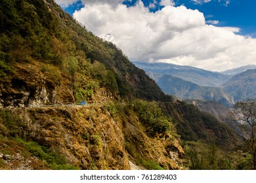
<svg viewBox="0 0 256 183">
<path fill-rule="evenodd" d="M 16 135 L 37 142 L 48 149 L 45 152 L 63 154 L 66 163 L 78 169 L 134 169 L 138 163 L 140 169 L 147 169 L 138 157 L 148 159 L 143 162 L 156 162 L 153 164 L 161 169 L 182 169 L 179 164 L 184 151 L 179 141 L 171 136 L 148 137 L 136 116 L 117 120 L 104 105 L 14 108 L 11 111 L 13 116 L 20 116 L 14 127 Z M 11 128 L 0 127 L 0 135 L 11 135 Z M 0 143 L 1 149 L 10 152 L 8 157 L 3 154 L 5 161 L 0 169 L 53 169 L 43 163 L 38 147 L 30 142 L 22 142 L 25 143 L 22 145 L 19 141 L 5 139 Z M 28 158 L 29 153 L 33 159 Z M 20 163 L 17 157 L 22 160 Z"/>
</svg>

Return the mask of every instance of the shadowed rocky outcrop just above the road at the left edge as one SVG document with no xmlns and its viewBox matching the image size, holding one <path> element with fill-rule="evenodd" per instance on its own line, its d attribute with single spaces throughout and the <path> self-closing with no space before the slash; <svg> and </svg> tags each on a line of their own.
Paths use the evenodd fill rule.
<svg viewBox="0 0 256 183">
<path fill-rule="evenodd" d="M 62 82 L 56 84 L 35 65 L 16 65 L 16 76 L 1 82 L 0 108 L 74 103 L 70 80 L 61 76 L 60 78 Z"/>
</svg>

